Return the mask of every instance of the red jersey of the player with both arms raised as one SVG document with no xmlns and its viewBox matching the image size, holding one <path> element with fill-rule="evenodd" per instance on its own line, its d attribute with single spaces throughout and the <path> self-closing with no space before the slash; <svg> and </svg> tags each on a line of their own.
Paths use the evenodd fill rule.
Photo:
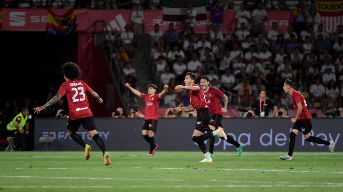
<svg viewBox="0 0 343 192">
<path fill-rule="evenodd" d="M 148 119 L 158 120 L 157 108 L 159 105 L 159 101 L 161 101 L 161 99 L 158 97 L 158 94 L 155 94 L 152 97 L 149 97 L 148 94 L 141 93 L 141 97 L 142 99 L 145 100 L 144 120 L 148 120 Z"/>
</svg>

